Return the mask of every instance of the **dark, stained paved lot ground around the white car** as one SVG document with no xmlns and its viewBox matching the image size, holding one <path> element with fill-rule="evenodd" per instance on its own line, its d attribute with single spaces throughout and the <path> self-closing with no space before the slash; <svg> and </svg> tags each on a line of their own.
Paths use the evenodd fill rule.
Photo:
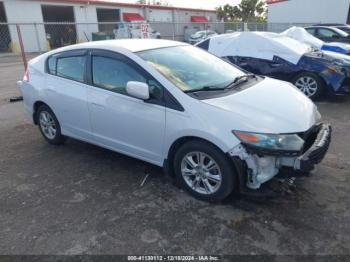
<svg viewBox="0 0 350 262">
<path fill-rule="evenodd" d="M 22 74 L 18 57 L 0 58 L 0 254 L 350 254 L 349 99 L 318 102 L 332 145 L 293 194 L 208 204 L 142 161 L 47 144 L 7 101 Z"/>
</svg>

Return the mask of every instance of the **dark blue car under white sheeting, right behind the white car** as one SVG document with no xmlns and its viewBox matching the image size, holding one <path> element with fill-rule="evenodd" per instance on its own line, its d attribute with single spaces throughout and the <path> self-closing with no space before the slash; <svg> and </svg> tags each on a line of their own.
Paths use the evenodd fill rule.
<svg viewBox="0 0 350 262">
<path fill-rule="evenodd" d="M 350 92 L 350 57 L 319 51 L 276 33 L 219 35 L 197 45 L 254 74 L 293 83 L 315 99 Z"/>
</svg>

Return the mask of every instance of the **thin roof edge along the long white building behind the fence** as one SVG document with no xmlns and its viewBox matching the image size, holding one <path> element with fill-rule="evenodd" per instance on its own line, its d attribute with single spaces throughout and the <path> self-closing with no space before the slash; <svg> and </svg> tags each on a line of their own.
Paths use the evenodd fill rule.
<svg viewBox="0 0 350 262">
<path fill-rule="evenodd" d="M 122 7 L 138 7 L 138 8 L 152 8 L 152 9 L 163 9 L 163 10 L 183 10 L 183 11 L 194 11 L 194 12 L 216 12 L 213 9 L 198 9 L 198 8 L 187 8 L 187 7 L 176 7 L 166 5 L 148 5 L 148 4 L 131 4 L 122 3 L 115 0 L 39 0 L 42 2 L 57 2 L 57 3 L 71 3 L 71 4 L 93 4 L 93 5 L 109 5 L 109 6 L 122 6 Z"/>
</svg>

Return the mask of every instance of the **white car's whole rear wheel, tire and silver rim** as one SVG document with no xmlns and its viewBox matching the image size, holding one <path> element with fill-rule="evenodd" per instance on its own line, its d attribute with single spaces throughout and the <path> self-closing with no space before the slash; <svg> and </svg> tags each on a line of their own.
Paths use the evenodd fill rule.
<svg viewBox="0 0 350 262">
<path fill-rule="evenodd" d="M 36 120 L 40 133 L 47 142 L 53 145 L 61 145 L 66 137 L 61 133 L 61 126 L 53 111 L 47 106 L 42 105 L 36 112 Z"/>
</svg>

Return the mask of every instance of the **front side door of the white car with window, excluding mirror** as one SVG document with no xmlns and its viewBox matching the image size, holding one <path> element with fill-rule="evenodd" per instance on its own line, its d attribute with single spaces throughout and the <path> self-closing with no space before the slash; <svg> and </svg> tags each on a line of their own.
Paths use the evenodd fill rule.
<svg viewBox="0 0 350 262">
<path fill-rule="evenodd" d="M 165 133 L 163 87 L 136 62 L 110 51 L 89 55 L 88 101 L 97 143 L 140 159 L 162 164 Z M 150 86 L 147 101 L 126 92 L 128 81 Z"/>
</svg>

